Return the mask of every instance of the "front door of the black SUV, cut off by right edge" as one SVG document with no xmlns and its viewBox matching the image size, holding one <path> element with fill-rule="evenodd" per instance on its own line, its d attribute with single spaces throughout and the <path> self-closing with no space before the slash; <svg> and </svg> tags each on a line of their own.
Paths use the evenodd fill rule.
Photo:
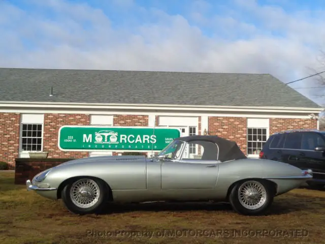
<svg viewBox="0 0 325 244">
<path fill-rule="evenodd" d="M 320 146 L 325 146 L 322 136 L 314 132 L 303 133 L 298 161 L 301 168 L 313 171 L 314 178 L 325 179 L 325 152 L 315 150 Z"/>
</svg>

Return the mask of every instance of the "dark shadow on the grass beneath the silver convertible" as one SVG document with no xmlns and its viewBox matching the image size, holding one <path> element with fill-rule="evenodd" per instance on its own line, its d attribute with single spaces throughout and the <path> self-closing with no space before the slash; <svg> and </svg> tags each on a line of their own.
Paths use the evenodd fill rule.
<svg viewBox="0 0 325 244">
<path fill-rule="evenodd" d="M 290 212 L 300 211 L 301 208 L 288 206 L 286 203 L 273 203 L 266 215 L 285 215 Z M 130 203 L 116 204 L 109 203 L 100 213 L 100 215 L 121 214 L 134 211 L 214 211 L 235 213 L 228 202 L 150 202 L 150 203 Z"/>
</svg>

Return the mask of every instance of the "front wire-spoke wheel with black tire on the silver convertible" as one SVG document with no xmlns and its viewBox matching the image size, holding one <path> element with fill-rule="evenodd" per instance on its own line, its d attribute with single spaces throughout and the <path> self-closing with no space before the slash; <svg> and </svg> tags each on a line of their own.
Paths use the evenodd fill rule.
<svg viewBox="0 0 325 244">
<path fill-rule="evenodd" d="M 100 212 L 108 199 L 108 188 L 100 179 L 80 178 L 64 186 L 61 196 L 64 205 L 74 214 Z"/>
</svg>

